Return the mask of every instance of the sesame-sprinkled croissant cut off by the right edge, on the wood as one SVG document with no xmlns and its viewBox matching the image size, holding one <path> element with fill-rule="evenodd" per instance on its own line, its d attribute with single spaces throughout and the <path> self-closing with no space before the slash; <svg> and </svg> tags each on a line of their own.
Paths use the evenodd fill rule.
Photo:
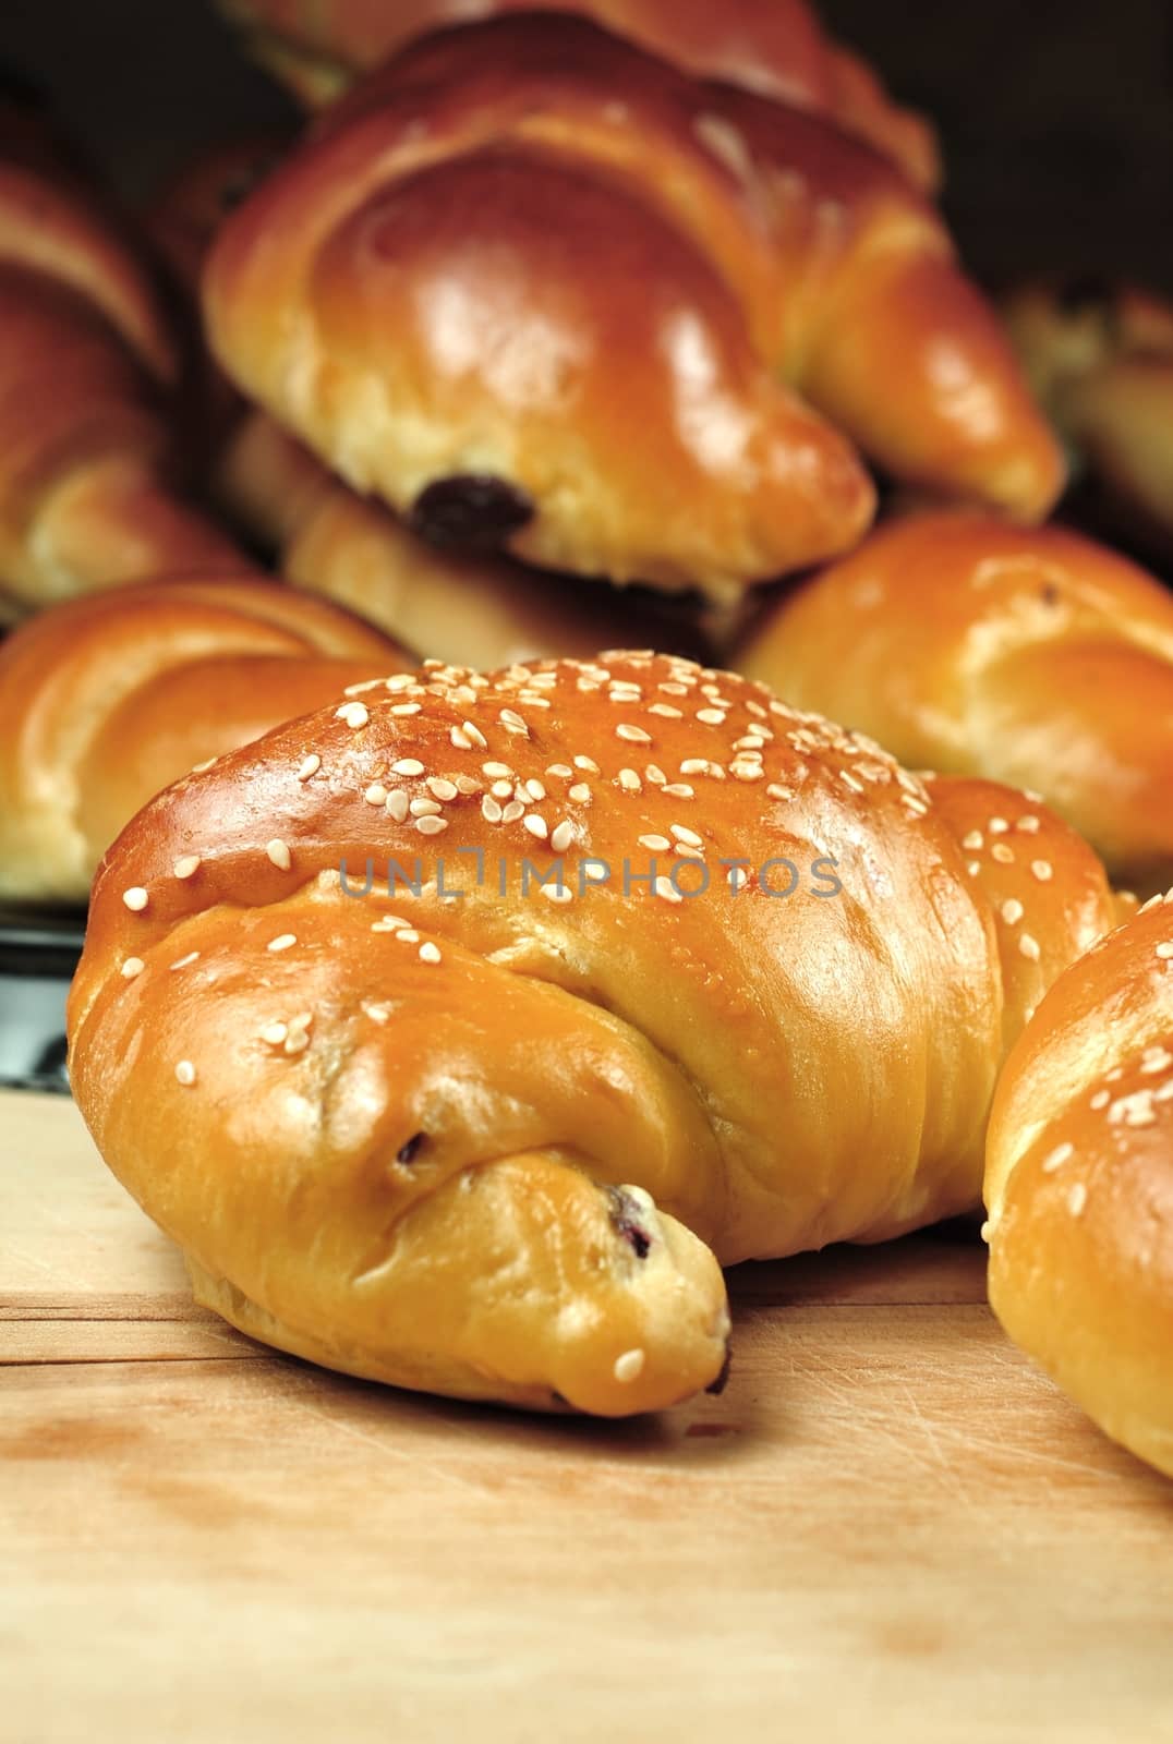
<svg viewBox="0 0 1173 1744">
<path fill-rule="evenodd" d="M 1096 1423 L 1173 1475 L 1173 905 L 1074 964 L 990 1125 L 990 1299 Z"/>
</svg>

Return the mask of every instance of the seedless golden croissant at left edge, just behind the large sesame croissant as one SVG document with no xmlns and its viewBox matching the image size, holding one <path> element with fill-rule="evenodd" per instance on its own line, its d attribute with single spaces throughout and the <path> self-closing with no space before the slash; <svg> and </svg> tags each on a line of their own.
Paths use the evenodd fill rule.
<svg viewBox="0 0 1173 1744">
<path fill-rule="evenodd" d="M 346 612 L 244 574 L 30 619 L 0 644 L 0 896 L 84 902 L 152 794 L 396 661 Z"/>
</svg>

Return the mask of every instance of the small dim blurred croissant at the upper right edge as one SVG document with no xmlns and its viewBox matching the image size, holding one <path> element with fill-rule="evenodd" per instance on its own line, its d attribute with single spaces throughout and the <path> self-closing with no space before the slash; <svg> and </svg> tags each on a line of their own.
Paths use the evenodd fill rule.
<svg viewBox="0 0 1173 1744">
<path fill-rule="evenodd" d="M 1005 319 L 1044 410 L 1075 455 L 1084 509 L 1173 556 L 1173 307 L 1126 284 L 1028 284 Z"/>
</svg>

